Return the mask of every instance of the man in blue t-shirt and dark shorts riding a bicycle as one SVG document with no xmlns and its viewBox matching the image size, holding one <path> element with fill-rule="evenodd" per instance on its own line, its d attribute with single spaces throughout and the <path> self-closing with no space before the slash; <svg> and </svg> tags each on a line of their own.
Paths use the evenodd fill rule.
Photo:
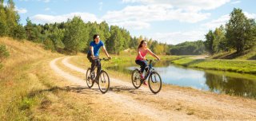
<svg viewBox="0 0 256 121">
<path fill-rule="evenodd" d="M 97 64 L 97 74 L 101 71 L 102 65 L 100 61 L 94 61 L 95 58 L 99 57 L 99 49 L 102 47 L 106 57 L 111 58 L 110 55 L 107 53 L 105 45 L 103 41 L 100 40 L 98 34 L 94 35 L 94 41 L 90 42 L 90 50 L 87 53 L 87 58 L 91 62 L 91 70 L 90 72 L 94 72 L 94 66 Z"/>
</svg>

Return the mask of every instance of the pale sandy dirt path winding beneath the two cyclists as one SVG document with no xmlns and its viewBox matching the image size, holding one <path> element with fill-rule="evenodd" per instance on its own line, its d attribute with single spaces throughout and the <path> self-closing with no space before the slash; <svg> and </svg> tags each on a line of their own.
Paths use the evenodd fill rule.
<svg viewBox="0 0 256 121">
<path fill-rule="evenodd" d="M 85 69 L 70 64 L 69 59 L 70 57 L 57 58 L 50 62 L 50 67 L 58 75 L 65 77 L 66 80 L 80 86 L 86 86 L 81 77 L 64 72 L 56 65 L 56 61 L 62 60 L 62 64 L 67 68 L 82 74 L 86 73 Z M 110 78 L 110 80 L 111 87 L 133 88 L 130 83 L 125 81 L 114 78 Z M 98 90 L 95 90 L 95 92 L 98 92 Z M 136 90 L 136 92 L 138 93 L 133 94 L 126 91 L 115 92 L 112 90 L 102 96 L 114 103 L 115 106 L 126 109 L 124 113 L 144 115 L 152 120 L 256 119 L 255 100 L 219 96 L 177 87 L 168 88 L 167 91 L 162 91 L 158 95 L 150 95 L 148 88 L 145 87 Z"/>
</svg>

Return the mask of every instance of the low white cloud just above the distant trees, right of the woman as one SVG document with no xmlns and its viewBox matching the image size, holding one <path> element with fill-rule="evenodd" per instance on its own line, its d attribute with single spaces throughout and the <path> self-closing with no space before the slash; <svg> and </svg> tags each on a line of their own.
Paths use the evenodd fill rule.
<svg viewBox="0 0 256 121">
<path fill-rule="evenodd" d="M 193 30 L 193 31 L 179 31 L 172 33 L 155 33 L 154 39 L 166 42 L 168 44 L 176 45 L 184 41 L 198 41 L 204 38 L 205 31 Z"/>
</svg>

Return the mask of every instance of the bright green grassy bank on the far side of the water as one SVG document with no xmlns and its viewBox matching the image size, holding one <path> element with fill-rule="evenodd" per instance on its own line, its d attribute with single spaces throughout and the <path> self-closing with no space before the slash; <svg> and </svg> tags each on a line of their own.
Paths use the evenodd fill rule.
<svg viewBox="0 0 256 121">
<path fill-rule="evenodd" d="M 180 64 L 189 68 L 203 68 L 212 70 L 222 70 L 229 72 L 256 73 L 256 61 L 241 60 L 213 60 L 213 59 L 192 59 L 182 58 L 172 61 L 174 64 Z"/>
</svg>

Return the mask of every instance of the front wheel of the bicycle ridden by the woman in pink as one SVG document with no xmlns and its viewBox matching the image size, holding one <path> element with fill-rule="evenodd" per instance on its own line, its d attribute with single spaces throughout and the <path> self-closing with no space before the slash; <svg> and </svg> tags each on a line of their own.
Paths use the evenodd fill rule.
<svg viewBox="0 0 256 121">
<path fill-rule="evenodd" d="M 158 72 L 152 72 L 149 78 L 150 91 L 154 94 L 160 92 L 162 88 L 162 79 Z"/>
</svg>

